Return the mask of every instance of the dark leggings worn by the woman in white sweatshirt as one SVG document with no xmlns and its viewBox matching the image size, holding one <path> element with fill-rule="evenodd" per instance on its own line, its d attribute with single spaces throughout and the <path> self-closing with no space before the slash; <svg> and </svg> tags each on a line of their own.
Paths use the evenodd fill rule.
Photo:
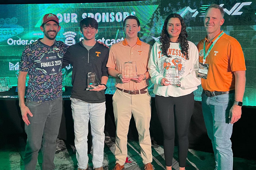
<svg viewBox="0 0 256 170">
<path fill-rule="evenodd" d="M 194 108 L 194 94 L 155 98 L 158 118 L 164 133 L 166 166 L 172 166 L 174 136 L 178 138 L 179 166 L 185 167 L 188 154 L 188 127 Z"/>
</svg>

